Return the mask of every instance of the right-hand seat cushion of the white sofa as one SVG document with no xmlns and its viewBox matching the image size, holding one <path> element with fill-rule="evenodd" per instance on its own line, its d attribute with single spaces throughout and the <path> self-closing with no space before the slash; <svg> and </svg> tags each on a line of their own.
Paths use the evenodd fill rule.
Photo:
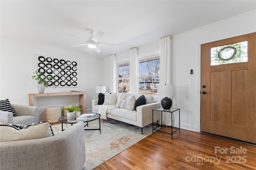
<svg viewBox="0 0 256 170">
<path fill-rule="evenodd" d="M 112 109 L 111 115 L 137 121 L 137 113 L 135 110 L 127 110 L 122 108 Z"/>
</svg>

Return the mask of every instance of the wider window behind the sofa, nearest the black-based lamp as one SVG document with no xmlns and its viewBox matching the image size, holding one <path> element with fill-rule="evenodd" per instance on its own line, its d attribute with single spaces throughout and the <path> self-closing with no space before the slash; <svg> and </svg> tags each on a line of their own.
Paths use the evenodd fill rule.
<svg viewBox="0 0 256 170">
<path fill-rule="evenodd" d="M 139 94 L 157 94 L 160 78 L 160 56 L 139 59 Z"/>
</svg>

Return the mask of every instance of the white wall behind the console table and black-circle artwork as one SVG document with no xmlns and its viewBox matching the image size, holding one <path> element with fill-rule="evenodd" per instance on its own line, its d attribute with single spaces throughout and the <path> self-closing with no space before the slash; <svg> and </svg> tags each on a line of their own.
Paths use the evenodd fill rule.
<svg viewBox="0 0 256 170">
<path fill-rule="evenodd" d="M 78 62 L 78 87 L 87 93 L 87 111 L 92 109 L 92 99 L 98 96 L 96 86 L 102 84 L 103 59 L 81 53 L 75 53 L 55 47 L 25 43 L 16 39 L 1 37 L 0 58 L 0 99 L 8 98 L 11 103 L 28 105 L 28 93 L 38 93 L 36 80 L 31 76 L 36 70 L 35 54 L 75 60 Z M 52 87 L 47 92 L 68 92 L 70 87 Z M 78 96 L 37 97 L 34 105 L 39 107 L 40 121 L 44 121 L 45 107 L 79 104 Z"/>
</svg>

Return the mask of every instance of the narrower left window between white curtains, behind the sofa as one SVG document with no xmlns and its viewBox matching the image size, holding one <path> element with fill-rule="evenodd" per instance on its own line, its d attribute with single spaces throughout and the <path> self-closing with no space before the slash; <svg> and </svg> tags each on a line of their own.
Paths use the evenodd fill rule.
<svg viewBox="0 0 256 170">
<path fill-rule="evenodd" d="M 118 64 L 118 92 L 128 93 L 130 90 L 130 62 Z"/>
</svg>

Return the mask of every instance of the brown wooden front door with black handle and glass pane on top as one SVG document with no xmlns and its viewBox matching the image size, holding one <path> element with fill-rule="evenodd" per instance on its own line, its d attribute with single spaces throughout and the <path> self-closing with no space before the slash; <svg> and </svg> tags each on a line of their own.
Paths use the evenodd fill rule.
<svg viewBox="0 0 256 170">
<path fill-rule="evenodd" d="M 201 45 L 201 131 L 256 143 L 256 33 Z"/>
</svg>

